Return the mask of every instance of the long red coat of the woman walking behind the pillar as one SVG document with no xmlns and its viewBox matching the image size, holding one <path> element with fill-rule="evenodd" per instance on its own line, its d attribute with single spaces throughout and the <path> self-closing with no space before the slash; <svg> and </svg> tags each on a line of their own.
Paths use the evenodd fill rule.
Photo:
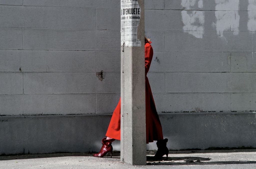
<svg viewBox="0 0 256 169">
<path fill-rule="evenodd" d="M 145 43 L 145 87 L 146 87 L 146 141 L 163 140 L 162 126 L 159 120 L 147 73 L 153 58 L 153 49 L 151 42 Z M 121 99 L 113 112 L 112 118 L 106 132 L 107 137 L 120 140 L 120 122 L 121 122 Z"/>
</svg>

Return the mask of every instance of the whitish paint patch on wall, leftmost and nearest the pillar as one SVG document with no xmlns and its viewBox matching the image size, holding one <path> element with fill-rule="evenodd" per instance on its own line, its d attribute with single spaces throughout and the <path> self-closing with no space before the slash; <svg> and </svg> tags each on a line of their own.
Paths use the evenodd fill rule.
<svg viewBox="0 0 256 169">
<path fill-rule="evenodd" d="M 203 38 L 205 23 L 204 11 L 186 10 L 192 9 L 196 5 L 199 8 L 203 8 L 203 1 L 182 0 L 181 5 L 185 8 L 185 10 L 181 12 L 182 21 L 184 24 L 183 31 L 186 31 L 187 33 L 195 36 L 196 38 Z"/>
</svg>

